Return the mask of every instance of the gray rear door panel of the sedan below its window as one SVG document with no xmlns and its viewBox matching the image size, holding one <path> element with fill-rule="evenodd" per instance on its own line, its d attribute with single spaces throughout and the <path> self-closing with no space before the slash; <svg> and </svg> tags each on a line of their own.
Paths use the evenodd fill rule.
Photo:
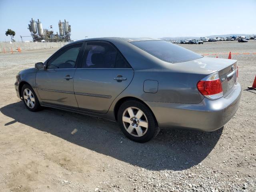
<svg viewBox="0 0 256 192">
<path fill-rule="evenodd" d="M 106 114 L 114 99 L 130 84 L 133 74 L 133 69 L 77 69 L 74 92 L 79 109 Z M 126 80 L 114 80 L 118 75 Z"/>
</svg>

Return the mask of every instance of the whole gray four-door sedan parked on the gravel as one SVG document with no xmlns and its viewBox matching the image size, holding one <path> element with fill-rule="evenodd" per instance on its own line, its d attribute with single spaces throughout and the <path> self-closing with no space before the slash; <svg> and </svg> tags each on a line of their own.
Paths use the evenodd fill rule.
<svg viewBox="0 0 256 192">
<path fill-rule="evenodd" d="M 42 106 L 117 121 L 136 142 L 160 128 L 213 131 L 238 109 L 236 60 L 150 38 L 94 38 L 60 48 L 16 77 L 30 111 Z"/>
</svg>

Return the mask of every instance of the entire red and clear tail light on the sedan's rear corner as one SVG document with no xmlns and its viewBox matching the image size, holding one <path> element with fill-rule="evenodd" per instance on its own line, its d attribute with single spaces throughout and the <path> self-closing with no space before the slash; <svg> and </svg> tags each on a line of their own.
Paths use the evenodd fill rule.
<svg viewBox="0 0 256 192">
<path fill-rule="evenodd" d="M 199 92 L 210 100 L 215 100 L 223 96 L 218 72 L 206 76 L 196 86 Z"/>
</svg>

